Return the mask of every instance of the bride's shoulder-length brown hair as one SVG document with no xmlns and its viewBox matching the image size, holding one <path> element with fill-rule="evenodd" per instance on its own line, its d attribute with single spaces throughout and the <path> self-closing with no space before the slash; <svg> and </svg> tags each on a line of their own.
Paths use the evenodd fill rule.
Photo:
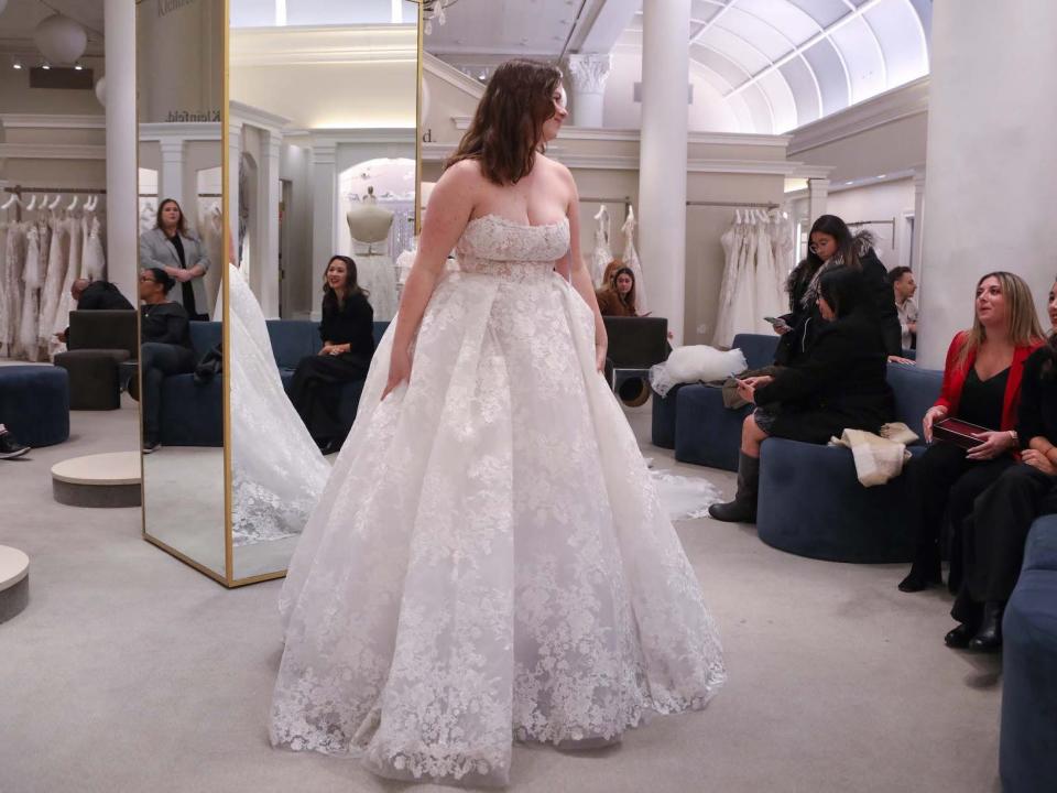
<svg viewBox="0 0 1057 793">
<path fill-rule="evenodd" d="M 470 128 L 445 167 L 477 160 L 484 177 L 498 185 L 527 175 L 543 150 L 543 124 L 554 118 L 554 91 L 560 83 L 560 69 L 551 64 L 504 63 L 489 80 Z"/>
</svg>

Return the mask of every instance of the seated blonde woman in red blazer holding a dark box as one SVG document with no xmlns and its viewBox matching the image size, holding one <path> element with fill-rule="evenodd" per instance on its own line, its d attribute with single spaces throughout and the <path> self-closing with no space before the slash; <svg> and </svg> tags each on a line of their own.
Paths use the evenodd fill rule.
<svg viewBox="0 0 1057 793">
<path fill-rule="evenodd" d="M 920 591 L 941 583 L 939 541 L 945 517 L 955 530 L 950 558 L 961 558 L 957 528 L 971 513 L 977 496 L 1016 461 L 1024 361 L 1043 340 L 1032 293 L 1022 278 L 993 272 L 980 279 L 972 328 L 950 343 L 939 399 L 925 414 L 925 441 L 930 445 L 909 467 L 917 546 L 901 590 Z M 942 441 L 934 444 L 933 424 L 948 417 L 989 430 L 968 452 Z M 955 565 L 949 580 L 952 591 L 959 578 L 960 566 Z"/>
</svg>

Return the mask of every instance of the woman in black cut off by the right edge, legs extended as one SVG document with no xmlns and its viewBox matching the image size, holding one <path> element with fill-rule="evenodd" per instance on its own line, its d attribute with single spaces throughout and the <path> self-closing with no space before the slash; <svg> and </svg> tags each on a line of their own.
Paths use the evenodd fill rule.
<svg viewBox="0 0 1057 793">
<path fill-rule="evenodd" d="M 1057 329 L 1057 283 L 1049 292 Z M 1057 335 L 1024 361 L 1016 436 L 1021 461 L 973 502 L 961 523 L 962 576 L 950 616 L 948 647 L 992 652 L 1002 647 L 1002 613 L 1024 561 L 1036 518 L 1057 512 Z"/>
</svg>

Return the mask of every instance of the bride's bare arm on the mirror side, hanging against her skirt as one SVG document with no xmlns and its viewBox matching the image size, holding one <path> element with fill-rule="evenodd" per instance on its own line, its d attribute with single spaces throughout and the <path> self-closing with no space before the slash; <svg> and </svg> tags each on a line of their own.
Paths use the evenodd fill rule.
<svg viewBox="0 0 1057 793">
<path fill-rule="evenodd" d="M 437 280 L 444 272 L 448 253 L 459 241 L 473 209 L 473 196 L 480 180 L 475 162 L 456 163 L 437 182 L 429 196 L 429 211 L 422 226 L 418 253 L 407 275 L 396 314 L 389 382 L 382 399 L 411 377 L 411 343 L 418 330 Z"/>
</svg>

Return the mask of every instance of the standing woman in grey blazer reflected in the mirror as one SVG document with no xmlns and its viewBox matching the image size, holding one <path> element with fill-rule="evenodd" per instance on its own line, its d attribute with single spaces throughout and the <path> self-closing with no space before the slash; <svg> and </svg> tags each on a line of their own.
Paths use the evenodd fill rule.
<svg viewBox="0 0 1057 793">
<path fill-rule="evenodd" d="M 198 236 L 187 228 L 184 210 L 172 198 L 157 207 L 154 228 L 140 235 L 140 265 L 161 268 L 179 284 L 173 300 L 190 319 L 208 319 L 209 304 L 203 275 L 209 257 Z"/>
</svg>

